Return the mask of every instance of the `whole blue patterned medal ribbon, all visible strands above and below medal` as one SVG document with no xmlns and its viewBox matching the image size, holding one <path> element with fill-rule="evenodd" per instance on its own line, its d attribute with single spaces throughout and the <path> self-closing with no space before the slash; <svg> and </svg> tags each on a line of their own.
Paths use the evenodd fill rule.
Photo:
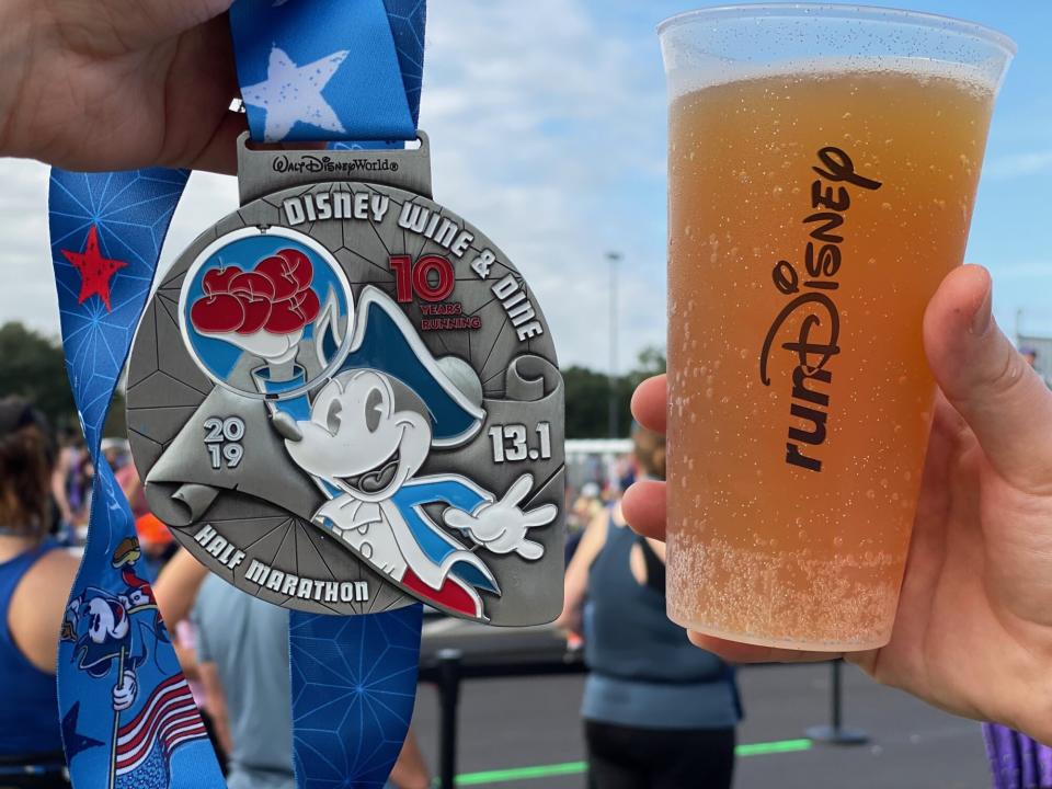
<svg viewBox="0 0 1052 789">
<path fill-rule="evenodd" d="M 253 138 L 400 147 L 382 140 L 415 135 L 424 15 L 424 0 L 238 0 L 230 22 Z M 130 510 L 100 453 L 188 175 L 52 171 L 67 373 L 96 468 L 57 672 L 62 740 L 79 789 L 225 786 L 157 610 Z M 299 787 L 384 785 L 412 714 L 421 618 L 420 605 L 359 617 L 293 613 Z"/>
</svg>

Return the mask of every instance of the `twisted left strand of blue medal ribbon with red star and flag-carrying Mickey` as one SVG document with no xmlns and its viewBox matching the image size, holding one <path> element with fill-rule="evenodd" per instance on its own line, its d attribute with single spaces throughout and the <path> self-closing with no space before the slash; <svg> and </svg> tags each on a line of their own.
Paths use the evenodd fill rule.
<svg viewBox="0 0 1052 789">
<path fill-rule="evenodd" d="M 225 786 L 140 562 L 132 511 L 100 451 L 188 175 L 160 168 L 52 171 L 49 229 L 66 371 L 95 468 L 88 541 L 57 666 L 62 744 L 78 789 Z"/>
</svg>

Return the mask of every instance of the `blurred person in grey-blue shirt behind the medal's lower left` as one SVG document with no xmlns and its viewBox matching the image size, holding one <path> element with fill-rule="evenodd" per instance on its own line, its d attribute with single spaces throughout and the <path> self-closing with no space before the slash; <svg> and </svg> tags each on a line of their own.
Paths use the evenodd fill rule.
<svg viewBox="0 0 1052 789">
<path fill-rule="evenodd" d="M 169 627 L 196 628 L 196 674 L 227 754 L 228 789 L 294 789 L 288 611 L 245 594 L 185 550 L 153 586 Z M 412 729 L 391 771 L 397 789 L 427 789 L 431 776 Z"/>
</svg>

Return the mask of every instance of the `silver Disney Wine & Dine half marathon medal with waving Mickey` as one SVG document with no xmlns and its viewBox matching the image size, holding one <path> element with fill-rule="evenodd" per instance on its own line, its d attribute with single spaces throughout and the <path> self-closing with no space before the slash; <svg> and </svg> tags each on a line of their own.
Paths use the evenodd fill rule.
<svg viewBox="0 0 1052 789">
<path fill-rule="evenodd" d="M 151 510 L 277 605 L 561 609 L 562 381 L 544 316 L 416 150 L 240 148 L 242 207 L 148 305 L 128 373 Z"/>
</svg>

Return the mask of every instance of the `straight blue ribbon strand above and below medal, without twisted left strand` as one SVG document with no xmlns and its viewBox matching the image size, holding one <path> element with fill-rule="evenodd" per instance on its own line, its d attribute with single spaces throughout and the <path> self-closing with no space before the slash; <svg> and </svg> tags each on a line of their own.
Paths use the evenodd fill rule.
<svg viewBox="0 0 1052 789">
<path fill-rule="evenodd" d="M 230 28 L 252 138 L 398 148 L 413 139 L 424 13 L 423 0 L 238 0 Z M 422 619 L 420 604 L 290 613 L 299 787 L 384 786 L 413 714 Z"/>
</svg>

